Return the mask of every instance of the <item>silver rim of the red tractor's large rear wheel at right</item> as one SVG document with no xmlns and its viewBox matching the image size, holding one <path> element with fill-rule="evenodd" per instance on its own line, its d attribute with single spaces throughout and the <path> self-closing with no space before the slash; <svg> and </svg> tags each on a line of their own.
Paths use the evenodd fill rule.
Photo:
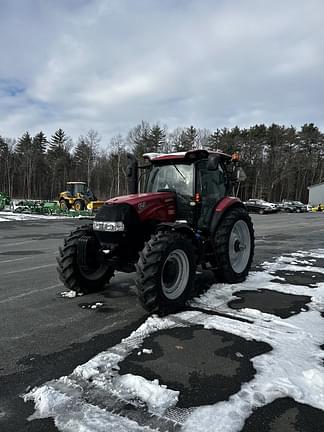
<svg viewBox="0 0 324 432">
<path fill-rule="evenodd" d="M 229 259 L 236 273 L 242 273 L 250 259 L 251 236 L 247 223 L 238 220 L 232 228 L 229 239 Z"/>
</svg>

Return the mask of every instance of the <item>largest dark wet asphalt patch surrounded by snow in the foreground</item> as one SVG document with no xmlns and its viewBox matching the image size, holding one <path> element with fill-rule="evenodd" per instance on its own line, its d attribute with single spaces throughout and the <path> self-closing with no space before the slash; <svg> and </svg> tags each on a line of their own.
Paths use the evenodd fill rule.
<svg viewBox="0 0 324 432">
<path fill-rule="evenodd" d="M 271 349 L 264 342 L 201 326 L 174 328 L 146 338 L 119 364 L 119 373 L 158 379 L 180 391 L 178 408 L 208 405 L 238 392 L 255 375 L 250 359 Z"/>
</svg>

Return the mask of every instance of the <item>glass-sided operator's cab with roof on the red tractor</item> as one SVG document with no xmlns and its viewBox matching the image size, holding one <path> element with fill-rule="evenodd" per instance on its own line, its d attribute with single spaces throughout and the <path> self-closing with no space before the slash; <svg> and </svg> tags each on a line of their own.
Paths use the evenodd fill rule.
<svg viewBox="0 0 324 432">
<path fill-rule="evenodd" d="M 230 194 L 232 157 L 193 150 L 167 155 L 144 154 L 150 168 L 145 192 L 173 192 L 176 219 L 194 229 L 208 229 L 217 203 Z"/>
</svg>

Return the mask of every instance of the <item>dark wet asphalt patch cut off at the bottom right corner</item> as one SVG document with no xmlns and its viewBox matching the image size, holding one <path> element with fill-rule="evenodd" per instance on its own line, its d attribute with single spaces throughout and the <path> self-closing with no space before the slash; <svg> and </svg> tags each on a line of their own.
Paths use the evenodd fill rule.
<svg viewBox="0 0 324 432">
<path fill-rule="evenodd" d="M 322 410 L 286 397 L 258 408 L 247 419 L 242 432 L 321 432 L 323 430 Z"/>
</svg>

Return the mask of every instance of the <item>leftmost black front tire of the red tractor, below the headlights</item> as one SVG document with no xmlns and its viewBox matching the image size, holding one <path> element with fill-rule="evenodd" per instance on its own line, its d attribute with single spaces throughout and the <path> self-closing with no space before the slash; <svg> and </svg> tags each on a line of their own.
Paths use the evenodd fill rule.
<svg viewBox="0 0 324 432">
<path fill-rule="evenodd" d="M 81 238 L 88 239 L 87 263 L 78 263 L 78 242 Z M 88 246 L 89 245 L 89 246 Z M 106 263 L 96 260 L 99 243 L 93 233 L 92 225 L 83 225 L 72 231 L 64 240 L 63 248 L 59 248 L 57 271 L 64 285 L 78 293 L 99 291 L 114 275 L 114 270 Z"/>
</svg>

